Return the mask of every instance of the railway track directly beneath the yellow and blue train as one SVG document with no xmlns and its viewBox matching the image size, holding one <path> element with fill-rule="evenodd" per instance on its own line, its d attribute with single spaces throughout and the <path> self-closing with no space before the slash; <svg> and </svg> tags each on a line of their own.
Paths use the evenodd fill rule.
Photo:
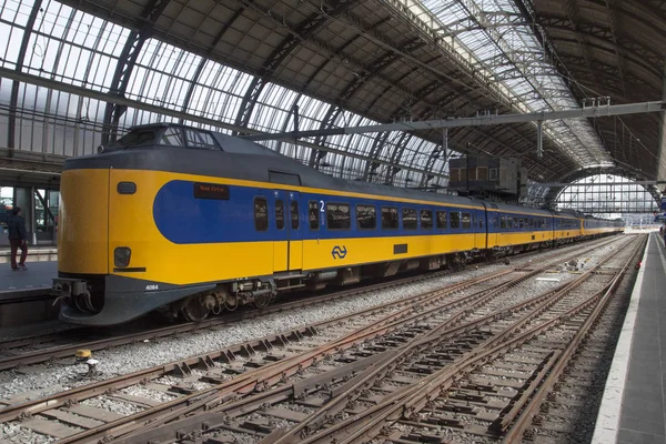
<svg viewBox="0 0 666 444">
<path fill-rule="evenodd" d="M 593 248 L 602 248 L 613 240 L 602 239 L 593 241 L 589 244 L 569 246 L 573 249 L 583 249 L 589 251 Z M 526 253 L 524 255 L 529 255 Z M 558 251 L 549 251 L 542 253 L 544 258 L 548 254 L 558 254 Z M 486 265 L 481 265 L 486 266 Z M 49 334 L 30 335 L 18 339 L 10 339 L 0 342 L 0 371 L 11 370 L 24 365 L 44 363 L 51 360 L 70 359 L 74 362 L 74 353 L 80 349 L 97 352 L 120 345 L 132 344 L 143 341 L 153 341 L 160 337 L 168 337 L 184 333 L 192 333 L 202 330 L 214 330 L 226 326 L 231 323 L 236 323 L 245 320 L 253 320 L 260 316 L 266 316 L 274 313 L 287 312 L 304 306 L 315 306 L 325 304 L 332 301 L 371 293 L 373 291 L 384 291 L 389 289 L 400 287 L 405 284 L 413 284 L 421 281 L 434 280 L 444 275 L 452 274 L 451 271 L 440 271 L 435 273 L 420 274 L 402 279 L 393 279 L 386 282 L 380 282 L 371 285 L 362 285 L 353 289 L 324 294 L 313 297 L 286 299 L 283 302 L 278 302 L 261 311 L 259 310 L 240 310 L 239 312 L 228 313 L 223 316 L 208 319 L 200 323 L 178 323 L 174 325 L 159 326 L 157 329 L 128 327 L 121 329 L 90 329 L 74 327 L 63 332 Z M 132 331 L 134 330 L 134 331 Z M 81 339 L 85 339 L 81 341 Z"/>
</svg>

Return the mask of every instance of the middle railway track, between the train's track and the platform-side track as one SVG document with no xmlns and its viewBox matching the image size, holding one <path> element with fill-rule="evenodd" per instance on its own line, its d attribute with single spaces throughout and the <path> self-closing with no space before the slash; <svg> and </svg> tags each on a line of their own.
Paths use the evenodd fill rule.
<svg viewBox="0 0 666 444">
<path fill-rule="evenodd" d="M 569 254 L 571 258 L 586 253 L 587 251 L 579 251 L 576 255 Z M 562 261 L 563 259 L 558 258 L 553 260 L 553 263 Z M 535 306 L 546 310 L 549 306 L 548 301 L 553 303 L 552 301 L 557 300 L 559 292 L 554 291 L 529 295 L 517 303 L 509 296 L 511 289 L 516 289 L 526 280 L 544 273 L 553 263 L 538 269 L 504 270 L 468 282 L 452 284 L 408 301 L 373 307 L 334 321 L 75 387 L 39 400 L 9 403 L 4 408 L 0 408 L 0 421 L 59 437 L 65 443 L 97 442 L 109 436 L 123 438 L 129 433 L 133 433 L 134 437 L 127 436 L 127 440 L 141 441 L 147 433 L 164 434 L 167 431 L 169 434 L 168 431 L 173 428 L 173 421 L 179 417 L 196 423 L 194 428 L 201 432 L 201 424 L 210 425 L 205 418 L 199 422 L 201 415 L 194 415 L 202 411 L 214 411 L 218 417 L 220 412 L 223 413 L 228 418 L 225 421 L 231 421 L 226 425 L 238 428 L 234 431 L 235 428 L 226 427 L 226 432 L 238 434 L 250 430 L 250 435 L 259 438 L 283 433 L 273 427 L 275 421 L 297 420 L 292 422 L 301 424 L 310 417 L 303 415 L 316 416 L 317 407 L 325 404 L 329 408 L 330 401 L 333 400 L 332 394 L 342 396 L 346 389 L 341 387 L 355 384 L 363 372 L 375 371 L 380 366 L 389 369 L 391 363 L 408 365 L 407 369 L 393 370 L 410 376 L 392 379 L 394 389 L 387 391 L 402 393 L 404 387 L 416 384 L 418 379 L 414 380 L 414 375 L 430 377 L 428 374 L 438 372 L 440 370 L 435 369 L 436 363 L 446 367 L 446 364 L 454 363 L 456 357 L 465 356 L 470 350 L 482 345 L 488 347 L 488 341 L 501 336 L 488 327 L 490 324 L 504 323 L 507 326 L 507 320 L 514 320 L 516 316 L 521 320 L 519 316 L 526 316 L 526 312 L 536 312 Z M 584 275 L 589 276 L 592 273 L 586 272 Z M 434 345 L 435 340 L 453 342 L 446 345 L 437 342 L 437 345 Z M 418 355 L 421 361 L 416 363 L 404 360 L 423 346 L 435 349 L 428 349 L 425 354 Z M 410 381 L 410 377 L 414 381 Z M 282 392 L 276 394 L 275 391 Z M 254 394 L 256 392 L 260 394 Z M 320 396 L 322 393 L 324 396 Z M 258 396 L 261 401 L 259 404 Z M 377 396 L 367 400 L 356 396 L 354 402 L 379 403 L 381 397 Z M 234 403 L 233 400 L 238 397 L 242 400 Z M 311 400 L 309 404 L 295 403 L 310 397 L 320 398 L 321 402 Z M 266 414 L 268 416 L 260 414 L 262 421 L 250 420 L 248 424 L 235 424 L 232 411 L 224 410 L 232 408 L 238 403 L 250 402 L 254 408 L 243 404 L 235 412 L 259 414 L 255 412 L 260 407 L 276 405 L 275 400 L 279 400 L 278 403 L 292 402 L 300 405 L 301 415 L 291 414 L 289 412 L 292 410 L 280 406 L 275 407 L 278 411 Z M 127 404 L 127 408 L 122 411 L 124 415 L 105 408 L 111 404 L 118 406 L 119 403 Z M 333 417 L 356 413 L 346 402 L 342 407 Z M 220 408 L 222 411 L 218 412 Z M 264 411 L 265 408 L 261 412 Z M 194 416 L 186 417 L 188 415 Z M 323 414 L 321 417 L 329 416 Z M 167 426 L 155 428 L 160 424 Z M 180 422 L 176 424 L 180 431 L 188 428 L 181 427 Z M 275 435 L 272 438 L 274 437 Z"/>
</svg>

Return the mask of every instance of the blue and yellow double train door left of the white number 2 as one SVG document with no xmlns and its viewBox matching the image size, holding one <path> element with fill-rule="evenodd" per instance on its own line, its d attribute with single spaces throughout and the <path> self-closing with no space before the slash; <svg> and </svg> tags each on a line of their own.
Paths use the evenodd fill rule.
<svg viewBox="0 0 666 444">
<path fill-rule="evenodd" d="M 275 190 L 275 236 L 273 271 L 301 270 L 303 268 L 303 221 L 301 193 Z"/>
</svg>

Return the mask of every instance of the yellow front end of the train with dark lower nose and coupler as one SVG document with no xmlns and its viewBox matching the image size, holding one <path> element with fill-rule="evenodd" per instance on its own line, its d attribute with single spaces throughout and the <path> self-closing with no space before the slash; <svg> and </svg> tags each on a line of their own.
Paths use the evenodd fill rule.
<svg viewBox="0 0 666 444">
<path fill-rule="evenodd" d="M 164 266 L 182 255 L 153 214 L 160 189 L 172 180 L 161 169 L 170 157 L 149 145 L 65 161 L 52 284 L 61 321 L 120 324 L 214 286 Z"/>
</svg>

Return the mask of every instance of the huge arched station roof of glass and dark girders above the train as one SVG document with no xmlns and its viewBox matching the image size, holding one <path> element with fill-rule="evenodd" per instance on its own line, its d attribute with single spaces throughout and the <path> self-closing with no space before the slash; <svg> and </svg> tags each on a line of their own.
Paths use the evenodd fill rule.
<svg viewBox="0 0 666 444">
<path fill-rule="evenodd" d="M 324 130 L 666 94 L 665 1 L 19 3 L 17 17 L 27 17 L 24 26 L 43 39 L 36 44 L 44 54 L 27 51 L 28 44 L 22 64 L 12 67 L 6 58 L 3 68 L 28 74 L 14 77 L 26 82 L 29 75 L 49 77 L 94 91 L 100 102 L 129 103 L 98 112 L 103 127 L 114 115 L 121 125 L 147 123 L 137 111 L 149 110 L 154 120 L 163 109 L 163 115 L 234 133 L 278 132 L 293 129 L 290 111 L 297 105 L 300 129 Z M 9 20 L 7 11 L 2 16 Z M 50 56 L 58 44 L 61 56 Z M 546 122 L 541 159 L 534 123 L 451 129 L 447 144 L 519 159 L 533 182 L 606 169 L 666 179 L 662 114 Z M 319 137 L 272 148 L 334 175 L 426 186 L 445 183 L 442 143 L 442 130 L 431 130 Z"/>
</svg>

